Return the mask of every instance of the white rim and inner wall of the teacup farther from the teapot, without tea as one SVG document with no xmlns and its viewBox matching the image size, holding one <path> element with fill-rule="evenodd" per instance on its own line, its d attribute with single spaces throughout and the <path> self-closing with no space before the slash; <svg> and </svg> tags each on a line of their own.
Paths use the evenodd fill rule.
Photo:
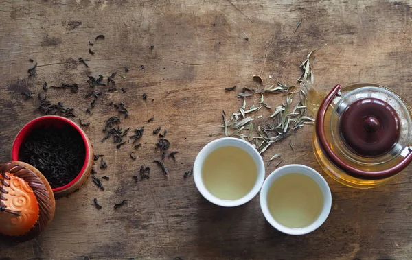
<svg viewBox="0 0 412 260">
<path fill-rule="evenodd" d="M 256 178 L 255 185 L 253 185 L 253 188 L 251 189 L 251 191 L 249 191 L 249 193 L 247 193 L 242 198 L 239 198 L 238 200 L 222 200 L 214 196 L 212 193 L 210 193 L 203 183 L 202 167 L 205 158 L 214 150 L 225 146 L 236 146 L 246 151 L 248 154 L 252 156 L 253 161 L 255 161 L 256 167 L 258 167 L 258 176 Z M 243 141 L 242 139 L 232 137 L 216 139 L 205 145 L 205 147 L 202 148 L 201 152 L 199 152 L 198 156 L 196 156 L 196 160 L 194 161 L 193 166 L 193 177 L 198 191 L 203 195 L 203 197 L 205 197 L 205 199 L 209 200 L 209 202 L 216 204 L 218 206 L 240 206 L 246 202 L 249 202 L 249 200 L 253 199 L 256 196 L 256 194 L 258 194 L 258 192 L 260 191 L 260 188 L 262 187 L 264 181 L 264 175 L 264 163 L 262 157 L 260 156 L 259 152 L 255 149 L 255 147 L 253 147 L 247 141 Z"/>
</svg>

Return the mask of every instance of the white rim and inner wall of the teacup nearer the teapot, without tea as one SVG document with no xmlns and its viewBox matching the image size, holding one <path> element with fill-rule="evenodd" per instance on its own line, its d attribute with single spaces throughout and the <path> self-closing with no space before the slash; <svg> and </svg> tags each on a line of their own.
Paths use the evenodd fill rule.
<svg viewBox="0 0 412 260">
<path fill-rule="evenodd" d="M 319 217 L 317 217 L 312 224 L 309 226 L 305 226 L 304 228 L 289 228 L 277 222 L 275 218 L 271 215 L 271 212 L 268 208 L 268 191 L 279 177 L 284 176 L 286 174 L 304 174 L 309 176 L 317 182 L 319 187 L 321 188 L 322 195 L 323 195 L 323 207 L 321 209 L 321 213 Z M 279 169 L 275 169 L 268 178 L 264 181 L 262 186 L 262 190 L 260 191 L 260 207 L 262 208 L 262 212 L 266 220 L 278 231 L 282 231 L 283 233 L 289 235 L 304 235 L 314 231 L 315 229 L 319 228 L 325 222 L 326 218 L 330 213 L 330 208 L 332 206 L 332 194 L 330 193 L 330 188 L 328 182 L 319 174 L 319 172 L 315 171 L 314 169 L 305 166 L 305 165 L 285 165 L 280 167 Z"/>
</svg>

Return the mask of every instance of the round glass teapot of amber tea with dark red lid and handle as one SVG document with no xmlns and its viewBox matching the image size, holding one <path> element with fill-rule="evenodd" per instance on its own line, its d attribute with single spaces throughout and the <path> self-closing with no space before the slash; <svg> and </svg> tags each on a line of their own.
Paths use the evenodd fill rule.
<svg viewBox="0 0 412 260">
<path fill-rule="evenodd" d="M 310 93 L 310 92 L 309 92 Z M 398 93 L 374 83 L 334 86 L 319 100 L 314 154 L 325 172 L 355 188 L 372 188 L 396 176 L 412 161 L 412 109 Z"/>
</svg>

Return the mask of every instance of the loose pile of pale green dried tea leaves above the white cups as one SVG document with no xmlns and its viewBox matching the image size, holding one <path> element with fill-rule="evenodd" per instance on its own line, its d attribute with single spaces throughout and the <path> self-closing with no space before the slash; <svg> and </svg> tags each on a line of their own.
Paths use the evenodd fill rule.
<svg viewBox="0 0 412 260">
<path fill-rule="evenodd" d="M 307 59 L 302 62 L 301 67 L 304 69 L 304 73 L 301 75 L 299 80 L 302 82 L 307 82 L 308 80 L 313 80 L 313 72 L 310 65 L 310 58 L 312 57 L 313 51 L 308 54 Z M 253 80 L 258 84 L 263 84 L 262 78 L 258 75 L 253 76 Z M 242 93 L 249 91 L 249 95 L 253 93 L 259 93 L 261 95 L 258 105 L 252 105 L 249 109 L 246 108 L 245 95 L 238 95 L 238 97 L 243 97 L 242 106 L 239 108 L 239 113 L 232 113 L 231 118 L 228 119 L 225 111 L 222 111 L 222 119 L 225 136 L 226 137 L 238 137 L 240 139 L 247 140 L 254 144 L 255 148 L 262 154 L 268 147 L 277 141 L 281 141 L 286 137 L 294 133 L 297 128 L 303 127 L 305 124 L 314 123 L 314 119 L 306 115 L 306 100 L 304 99 L 305 93 L 303 91 L 292 92 L 294 86 L 288 86 L 277 82 L 268 88 L 262 89 L 244 89 Z M 242 94 L 240 93 L 240 94 Z M 286 102 L 281 106 L 272 108 L 264 102 L 265 93 L 279 94 L 283 93 L 286 95 Z M 299 103 L 293 107 L 293 97 L 295 93 L 299 93 Z M 253 123 L 255 118 L 253 114 L 258 112 L 262 107 L 268 109 L 274 109 L 269 119 L 272 121 L 266 121 L 266 124 Z M 258 115 L 258 119 L 262 115 Z M 232 130 L 232 131 L 230 131 Z M 257 133 L 257 136 L 253 136 Z M 291 145 L 293 149 L 293 145 Z M 273 160 L 273 159 L 272 159 Z M 282 160 L 279 162 L 282 163 Z M 279 165 L 277 163 L 277 165 Z"/>
</svg>

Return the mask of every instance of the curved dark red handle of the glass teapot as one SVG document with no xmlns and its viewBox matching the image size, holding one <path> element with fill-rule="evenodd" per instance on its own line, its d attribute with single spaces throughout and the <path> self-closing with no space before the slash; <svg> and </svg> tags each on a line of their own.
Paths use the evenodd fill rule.
<svg viewBox="0 0 412 260">
<path fill-rule="evenodd" d="M 347 163 L 342 161 L 341 158 L 336 156 L 336 154 L 330 148 L 330 145 L 328 144 L 328 141 L 326 140 L 325 128 L 323 127 L 323 125 L 325 123 L 326 111 L 328 110 L 328 107 L 330 106 L 330 104 L 332 104 L 333 99 L 338 94 L 338 92 L 341 90 L 341 88 L 342 86 L 339 84 L 334 86 L 334 88 L 332 88 L 332 91 L 330 91 L 330 93 L 326 95 L 325 99 L 323 99 L 321 106 L 319 106 L 319 110 L 318 110 L 317 117 L 316 117 L 316 122 L 315 122 L 316 135 L 319 141 L 319 145 L 321 149 L 323 150 L 323 152 L 325 152 L 325 155 L 329 158 L 330 161 L 332 161 L 332 163 L 334 163 L 334 165 L 341 168 L 343 172 L 355 178 L 363 178 L 367 180 L 378 180 L 378 179 L 393 176 L 401 172 L 412 161 L 411 147 L 409 147 L 409 154 L 407 154 L 407 156 L 405 156 L 404 159 L 400 161 L 400 163 L 398 163 L 397 165 L 394 165 L 393 167 L 389 169 L 385 169 L 385 170 L 377 171 L 377 172 L 364 171 L 362 169 L 356 169 L 355 167 L 348 165 Z"/>
</svg>

